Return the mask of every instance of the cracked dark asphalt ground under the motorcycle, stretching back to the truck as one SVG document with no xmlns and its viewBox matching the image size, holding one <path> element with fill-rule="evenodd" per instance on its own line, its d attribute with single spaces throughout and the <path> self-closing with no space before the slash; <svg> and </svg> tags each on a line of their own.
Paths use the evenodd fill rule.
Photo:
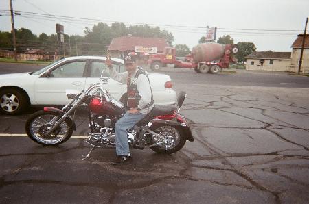
<svg viewBox="0 0 309 204">
<path fill-rule="evenodd" d="M 82 113 L 75 137 L 56 147 L 25 136 L 34 109 L 0 115 L 0 203 L 308 203 L 309 77 L 163 73 L 187 92 L 181 114 L 194 142 L 172 155 L 133 149 L 133 162 L 112 166 L 114 149 L 82 160 Z"/>
</svg>

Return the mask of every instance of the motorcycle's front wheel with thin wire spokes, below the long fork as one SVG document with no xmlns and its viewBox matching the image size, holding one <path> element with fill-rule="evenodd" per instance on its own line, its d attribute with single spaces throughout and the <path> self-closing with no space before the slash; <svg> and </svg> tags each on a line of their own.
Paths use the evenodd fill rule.
<svg viewBox="0 0 309 204">
<path fill-rule="evenodd" d="M 34 142 L 45 146 L 55 146 L 69 140 L 73 133 L 69 118 L 49 136 L 45 136 L 45 133 L 53 127 L 61 116 L 62 114 L 58 112 L 45 112 L 43 110 L 32 114 L 25 124 L 27 135 Z"/>
</svg>

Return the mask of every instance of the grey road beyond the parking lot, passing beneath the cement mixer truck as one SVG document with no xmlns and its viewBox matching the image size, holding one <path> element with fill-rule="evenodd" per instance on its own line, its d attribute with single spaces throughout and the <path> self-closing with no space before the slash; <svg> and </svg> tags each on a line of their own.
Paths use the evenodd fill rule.
<svg viewBox="0 0 309 204">
<path fill-rule="evenodd" d="M 36 71 L 47 65 L 1 63 L 0 74 Z M 202 83 L 225 86 L 264 86 L 309 88 L 309 77 L 282 72 L 234 70 L 236 73 L 201 74 L 189 68 L 162 68 L 174 84 Z"/>
</svg>

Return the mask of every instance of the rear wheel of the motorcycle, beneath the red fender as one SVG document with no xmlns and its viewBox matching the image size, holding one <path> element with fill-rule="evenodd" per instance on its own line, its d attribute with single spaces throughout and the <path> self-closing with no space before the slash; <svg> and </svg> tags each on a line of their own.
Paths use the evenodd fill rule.
<svg viewBox="0 0 309 204">
<path fill-rule="evenodd" d="M 152 136 L 153 144 L 163 142 L 158 146 L 151 147 L 151 149 L 157 153 L 175 153 L 183 148 L 183 145 L 185 145 L 185 135 L 178 127 L 171 125 L 157 125 L 152 128 L 152 131 L 155 131 L 155 133 L 158 133 L 160 136 L 165 138 L 165 140 L 163 140 L 155 135 Z"/>
</svg>

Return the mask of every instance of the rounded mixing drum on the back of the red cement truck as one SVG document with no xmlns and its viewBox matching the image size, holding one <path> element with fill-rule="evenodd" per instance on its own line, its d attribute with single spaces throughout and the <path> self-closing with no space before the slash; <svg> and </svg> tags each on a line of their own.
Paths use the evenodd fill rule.
<svg viewBox="0 0 309 204">
<path fill-rule="evenodd" d="M 211 62 L 218 60 L 225 54 L 225 45 L 214 42 L 198 44 L 192 48 L 194 62 Z"/>
</svg>

